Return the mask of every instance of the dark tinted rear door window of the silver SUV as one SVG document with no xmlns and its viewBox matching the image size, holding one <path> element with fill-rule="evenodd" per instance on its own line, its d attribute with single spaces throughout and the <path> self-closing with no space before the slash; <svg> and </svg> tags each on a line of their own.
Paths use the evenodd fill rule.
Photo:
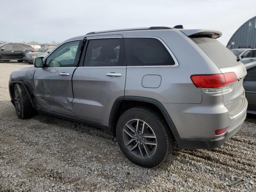
<svg viewBox="0 0 256 192">
<path fill-rule="evenodd" d="M 125 66 L 122 38 L 89 40 L 84 66 Z"/>
</svg>

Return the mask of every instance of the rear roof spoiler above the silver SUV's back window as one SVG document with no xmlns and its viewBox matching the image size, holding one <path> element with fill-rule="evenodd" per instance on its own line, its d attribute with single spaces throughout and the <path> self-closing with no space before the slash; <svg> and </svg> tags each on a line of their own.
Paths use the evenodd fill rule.
<svg viewBox="0 0 256 192">
<path fill-rule="evenodd" d="M 204 29 L 180 29 L 188 37 L 209 37 L 219 38 L 222 36 L 222 32 L 215 30 L 204 30 Z"/>
</svg>

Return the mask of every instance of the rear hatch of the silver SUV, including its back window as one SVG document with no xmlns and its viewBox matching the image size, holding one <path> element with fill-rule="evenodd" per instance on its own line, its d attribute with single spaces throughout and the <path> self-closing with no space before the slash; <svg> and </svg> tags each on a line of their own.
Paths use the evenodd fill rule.
<svg viewBox="0 0 256 192">
<path fill-rule="evenodd" d="M 218 37 L 217 35 L 215 36 Z M 236 60 L 237 57 L 215 38 L 210 38 L 209 36 L 190 36 L 190 38 L 205 52 L 224 75 L 227 73 L 233 74 L 232 72 L 236 74 L 237 78 L 234 82 L 225 86 L 222 92 L 223 104 L 228 109 L 230 117 L 234 118 L 246 105 L 243 80 L 247 72 L 244 64 L 238 62 Z"/>
</svg>

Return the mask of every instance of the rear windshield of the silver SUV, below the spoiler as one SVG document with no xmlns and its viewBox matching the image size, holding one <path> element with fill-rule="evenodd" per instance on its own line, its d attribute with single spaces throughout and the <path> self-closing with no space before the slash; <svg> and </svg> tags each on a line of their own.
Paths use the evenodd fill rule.
<svg viewBox="0 0 256 192">
<path fill-rule="evenodd" d="M 236 66 L 236 56 L 218 40 L 208 37 L 191 38 L 218 68 Z"/>
</svg>

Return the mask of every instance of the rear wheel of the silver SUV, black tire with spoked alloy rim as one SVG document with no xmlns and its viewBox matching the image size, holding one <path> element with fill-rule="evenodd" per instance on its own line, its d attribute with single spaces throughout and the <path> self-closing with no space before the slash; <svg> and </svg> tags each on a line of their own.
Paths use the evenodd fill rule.
<svg viewBox="0 0 256 192">
<path fill-rule="evenodd" d="M 132 108 L 124 112 L 117 123 L 116 137 L 124 155 L 143 167 L 159 165 L 174 145 L 160 116 L 148 108 Z"/>
</svg>

